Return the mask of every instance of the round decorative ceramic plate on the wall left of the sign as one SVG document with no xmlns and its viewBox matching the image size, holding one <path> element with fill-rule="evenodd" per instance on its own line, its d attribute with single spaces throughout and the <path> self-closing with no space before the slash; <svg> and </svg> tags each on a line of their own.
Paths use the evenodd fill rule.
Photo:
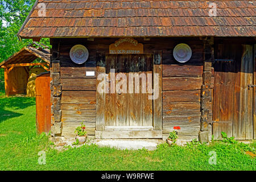
<svg viewBox="0 0 256 182">
<path fill-rule="evenodd" d="M 88 60 L 88 49 L 82 45 L 73 46 L 69 52 L 71 60 L 76 64 L 83 64 Z"/>
</svg>

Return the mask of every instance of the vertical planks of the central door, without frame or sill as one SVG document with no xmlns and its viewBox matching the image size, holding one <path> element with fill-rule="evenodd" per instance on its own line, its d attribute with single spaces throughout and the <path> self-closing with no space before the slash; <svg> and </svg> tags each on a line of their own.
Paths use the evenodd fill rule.
<svg viewBox="0 0 256 182">
<path fill-rule="evenodd" d="M 147 67 L 146 67 L 147 65 Z M 115 69 L 115 73 L 110 72 Z M 121 73 L 127 77 L 126 90 L 117 86 L 119 81 L 115 77 Z M 148 101 L 148 94 L 142 93 L 142 80 L 138 80 L 138 90 L 129 90 L 129 73 L 152 73 L 152 55 L 108 55 L 106 56 L 106 74 L 108 74 L 109 93 L 105 94 L 105 126 L 152 126 L 152 101 Z M 133 85 L 137 77 L 133 78 Z M 139 77 L 138 77 L 139 78 Z M 114 86 L 114 89 L 112 88 Z M 119 88 L 120 90 L 115 90 Z"/>
</svg>

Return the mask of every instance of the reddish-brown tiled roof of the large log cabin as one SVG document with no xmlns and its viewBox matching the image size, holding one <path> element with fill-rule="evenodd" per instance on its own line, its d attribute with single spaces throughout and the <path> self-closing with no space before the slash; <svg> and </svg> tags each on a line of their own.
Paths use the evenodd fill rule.
<svg viewBox="0 0 256 182">
<path fill-rule="evenodd" d="M 209 16 L 212 2 L 216 17 Z M 252 0 L 38 0 L 18 36 L 255 36 L 255 8 Z"/>
</svg>

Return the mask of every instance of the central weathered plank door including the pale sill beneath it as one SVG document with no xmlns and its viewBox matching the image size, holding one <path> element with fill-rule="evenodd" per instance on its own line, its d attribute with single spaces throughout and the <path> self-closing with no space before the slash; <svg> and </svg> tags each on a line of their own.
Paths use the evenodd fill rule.
<svg viewBox="0 0 256 182">
<path fill-rule="evenodd" d="M 105 93 L 97 97 L 97 106 L 105 105 L 104 128 L 96 137 L 161 138 L 162 131 L 154 130 L 148 92 L 153 89 L 153 55 L 106 55 L 105 74 Z"/>
</svg>

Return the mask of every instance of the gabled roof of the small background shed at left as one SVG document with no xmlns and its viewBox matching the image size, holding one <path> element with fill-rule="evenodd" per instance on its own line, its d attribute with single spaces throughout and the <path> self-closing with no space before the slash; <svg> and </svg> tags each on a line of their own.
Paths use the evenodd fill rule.
<svg viewBox="0 0 256 182">
<path fill-rule="evenodd" d="M 38 57 L 50 64 L 50 51 L 48 49 L 23 47 L 19 52 L 9 57 L 9 59 L 2 61 L 0 67 L 7 64 L 32 63 Z"/>
</svg>

